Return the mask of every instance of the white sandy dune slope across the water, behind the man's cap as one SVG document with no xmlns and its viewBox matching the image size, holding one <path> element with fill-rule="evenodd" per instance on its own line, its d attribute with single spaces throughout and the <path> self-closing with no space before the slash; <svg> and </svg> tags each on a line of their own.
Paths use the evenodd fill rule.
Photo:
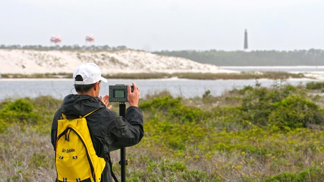
<svg viewBox="0 0 324 182">
<path fill-rule="evenodd" d="M 95 62 L 103 74 L 201 72 L 230 73 L 218 66 L 143 51 L 0 50 L 0 74 L 71 73 L 84 62 Z"/>
</svg>

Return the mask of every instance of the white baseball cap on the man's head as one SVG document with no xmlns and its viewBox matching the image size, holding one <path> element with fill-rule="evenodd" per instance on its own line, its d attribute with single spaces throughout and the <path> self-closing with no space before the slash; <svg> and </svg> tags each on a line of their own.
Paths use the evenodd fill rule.
<svg viewBox="0 0 324 182">
<path fill-rule="evenodd" d="M 80 75 L 83 78 L 83 81 L 75 81 L 76 75 Z M 84 63 L 75 68 L 73 72 L 74 84 L 93 84 L 98 81 L 103 81 L 107 83 L 107 79 L 101 76 L 101 70 L 98 65 L 95 63 Z"/>
</svg>

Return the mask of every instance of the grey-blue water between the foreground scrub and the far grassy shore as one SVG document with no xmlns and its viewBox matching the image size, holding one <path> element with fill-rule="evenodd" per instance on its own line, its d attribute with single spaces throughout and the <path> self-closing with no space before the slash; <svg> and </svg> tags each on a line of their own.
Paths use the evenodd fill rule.
<svg viewBox="0 0 324 182">
<path fill-rule="evenodd" d="M 275 80 L 257 80 L 263 86 L 271 86 Z M 227 90 L 242 88 L 245 85 L 255 85 L 256 80 L 192 80 L 192 79 L 109 79 L 108 83 L 101 83 L 100 95 L 108 94 L 108 85 L 118 83 L 131 84 L 135 82 L 141 89 L 141 98 L 168 90 L 174 97 L 184 98 L 202 97 L 207 90 L 213 96 L 221 96 Z M 323 81 L 313 79 L 288 79 L 281 84 L 305 84 L 309 81 Z M 52 96 L 63 99 L 68 94 L 76 94 L 71 79 L 0 79 L 0 100 L 6 98 L 35 98 L 38 96 Z"/>
</svg>

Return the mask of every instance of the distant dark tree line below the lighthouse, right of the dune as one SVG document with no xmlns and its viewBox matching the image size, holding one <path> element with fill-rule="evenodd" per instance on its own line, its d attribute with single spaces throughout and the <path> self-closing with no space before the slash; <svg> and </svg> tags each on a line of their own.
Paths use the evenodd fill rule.
<svg viewBox="0 0 324 182">
<path fill-rule="evenodd" d="M 161 51 L 154 54 L 187 58 L 218 66 L 324 65 L 324 50 L 295 51 Z"/>
</svg>

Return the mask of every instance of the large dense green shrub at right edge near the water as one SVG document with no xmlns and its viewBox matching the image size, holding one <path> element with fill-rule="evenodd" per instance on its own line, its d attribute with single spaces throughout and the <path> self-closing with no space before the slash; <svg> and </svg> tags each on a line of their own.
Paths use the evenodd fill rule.
<svg viewBox="0 0 324 182">
<path fill-rule="evenodd" d="M 272 89 L 260 85 L 246 86 L 239 93 L 242 94 L 242 120 L 258 126 L 297 128 L 324 121 L 318 106 L 303 99 L 306 94 L 292 85 L 273 85 Z"/>
</svg>

